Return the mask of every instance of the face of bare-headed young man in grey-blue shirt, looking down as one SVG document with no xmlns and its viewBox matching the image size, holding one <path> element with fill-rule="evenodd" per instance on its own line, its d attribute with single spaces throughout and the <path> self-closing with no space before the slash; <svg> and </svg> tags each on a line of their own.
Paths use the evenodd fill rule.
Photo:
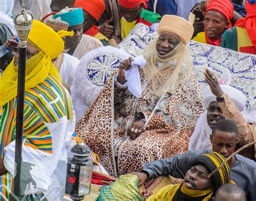
<svg viewBox="0 0 256 201">
<path fill-rule="evenodd" d="M 237 135 L 223 131 L 216 131 L 211 135 L 212 150 L 227 158 L 234 153 Z"/>
</svg>

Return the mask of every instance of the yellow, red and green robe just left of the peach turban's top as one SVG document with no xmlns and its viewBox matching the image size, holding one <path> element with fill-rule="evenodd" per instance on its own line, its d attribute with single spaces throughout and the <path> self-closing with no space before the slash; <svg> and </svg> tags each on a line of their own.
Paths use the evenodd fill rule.
<svg viewBox="0 0 256 201">
<path fill-rule="evenodd" d="M 136 21 L 127 22 L 124 17 L 120 19 L 122 39 L 124 39 L 132 30 L 134 25 L 142 23 L 147 26 L 152 26 L 161 20 L 161 16 L 157 13 L 142 9 L 139 18 Z M 154 27 L 153 27 L 154 28 Z"/>
</svg>

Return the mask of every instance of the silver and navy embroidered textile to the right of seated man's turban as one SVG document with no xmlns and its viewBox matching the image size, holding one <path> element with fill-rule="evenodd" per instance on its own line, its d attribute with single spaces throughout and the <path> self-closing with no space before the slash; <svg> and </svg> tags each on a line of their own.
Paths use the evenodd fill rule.
<svg viewBox="0 0 256 201">
<path fill-rule="evenodd" d="M 256 55 L 244 54 L 217 46 L 190 41 L 188 45 L 194 63 L 197 80 L 205 87 L 204 70 L 214 71 L 220 78 L 227 71 L 231 74 L 231 86 L 247 96 L 247 109 L 256 109 Z"/>
</svg>

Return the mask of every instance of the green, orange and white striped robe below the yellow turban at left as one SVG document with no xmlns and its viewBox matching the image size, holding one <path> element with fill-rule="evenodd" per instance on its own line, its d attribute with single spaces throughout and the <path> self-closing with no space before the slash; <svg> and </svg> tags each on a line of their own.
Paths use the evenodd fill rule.
<svg viewBox="0 0 256 201">
<path fill-rule="evenodd" d="M 17 98 L 2 109 L 0 149 L 9 173 L 1 176 L 0 184 L 10 189 L 15 166 Z M 34 185 L 34 193 L 43 192 L 45 195 L 55 186 L 65 188 L 67 150 L 72 143 L 74 128 L 71 97 L 55 78 L 48 76 L 44 82 L 25 91 L 22 192 L 30 182 Z M 4 188 L 1 191 L 9 196 Z M 58 200 L 55 199 L 57 191 L 48 199 Z"/>
</svg>

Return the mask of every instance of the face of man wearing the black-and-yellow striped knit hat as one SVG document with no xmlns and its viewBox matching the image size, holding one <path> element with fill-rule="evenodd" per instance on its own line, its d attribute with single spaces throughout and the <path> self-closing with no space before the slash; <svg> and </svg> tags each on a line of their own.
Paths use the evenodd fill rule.
<svg viewBox="0 0 256 201">
<path fill-rule="evenodd" d="M 186 173 L 184 182 L 188 189 L 206 190 L 212 188 L 212 180 L 208 178 L 208 171 L 200 164 L 192 166 Z"/>
</svg>

